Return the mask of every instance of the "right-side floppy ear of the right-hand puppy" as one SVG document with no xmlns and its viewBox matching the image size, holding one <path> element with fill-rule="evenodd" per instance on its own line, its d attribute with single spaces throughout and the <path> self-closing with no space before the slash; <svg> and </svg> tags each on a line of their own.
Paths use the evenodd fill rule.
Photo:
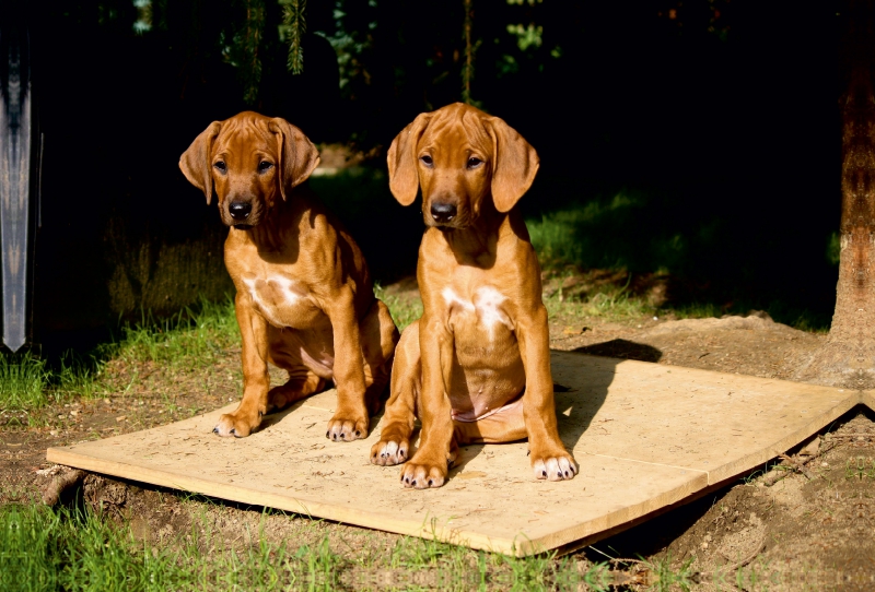
<svg viewBox="0 0 875 592">
<path fill-rule="evenodd" d="M 490 117 L 485 123 L 492 137 L 492 201 L 499 212 L 510 212 L 532 187 L 540 159 L 503 119 Z"/>
</svg>

